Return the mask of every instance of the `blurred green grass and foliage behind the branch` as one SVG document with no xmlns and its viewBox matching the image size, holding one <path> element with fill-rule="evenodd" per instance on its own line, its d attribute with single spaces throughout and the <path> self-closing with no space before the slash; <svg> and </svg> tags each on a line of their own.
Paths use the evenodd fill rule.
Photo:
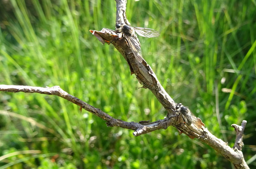
<svg viewBox="0 0 256 169">
<path fill-rule="evenodd" d="M 128 0 L 142 55 L 167 93 L 256 162 L 256 1 Z M 89 30 L 115 29 L 114 0 L 0 0 L 0 84 L 55 86 L 125 121 L 166 111 L 123 56 Z M 169 127 L 139 137 L 57 96 L 0 93 L 0 168 L 231 168 L 212 148 Z M 219 121 L 218 121 L 219 119 Z M 35 151 L 39 150 L 39 151 Z M 254 156 L 255 157 L 255 156 Z"/>
</svg>

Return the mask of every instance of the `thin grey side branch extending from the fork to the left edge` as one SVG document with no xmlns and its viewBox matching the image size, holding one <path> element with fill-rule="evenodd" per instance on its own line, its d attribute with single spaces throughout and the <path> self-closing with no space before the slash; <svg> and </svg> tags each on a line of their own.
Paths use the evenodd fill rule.
<svg viewBox="0 0 256 169">
<path fill-rule="evenodd" d="M 40 93 L 45 95 L 56 95 L 62 97 L 83 109 L 91 112 L 92 114 L 99 116 L 103 120 L 107 121 L 107 126 L 111 127 L 122 127 L 125 129 L 134 130 L 134 136 L 140 136 L 141 134 L 146 134 L 151 131 L 159 129 L 167 129 L 168 126 L 172 125 L 174 120 L 173 118 L 165 118 L 162 120 L 157 120 L 156 122 L 141 121 L 140 123 L 135 122 L 125 122 L 123 120 L 115 119 L 107 113 L 103 112 L 100 109 L 97 109 L 90 104 L 68 94 L 66 91 L 62 90 L 59 86 L 53 86 L 52 88 L 41 88 L 41 87 L 32 87 L 32 86 L 16 86 L 16 85 L 0 85 L 0 91 L 5 92 L 25 92 L 25 93 Z"/>
</svg>

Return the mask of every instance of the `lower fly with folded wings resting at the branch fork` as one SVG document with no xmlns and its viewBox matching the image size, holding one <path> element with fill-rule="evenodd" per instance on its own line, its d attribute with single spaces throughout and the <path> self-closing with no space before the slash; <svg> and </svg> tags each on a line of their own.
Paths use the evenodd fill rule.
<svg viewBox="0 0 256 169">
<path fill-rule="evenodd" d="M 200 118 L 197 118 L 186 106 L 182 106 L 182 104 L 178 104 L 176 109 L 180 109 L 182 119 L 184 121 L 184 124 L 187 126 L 190 126 L 192 123 L 196 126 L 196 128 L 201 129 L 202 126 L 204 126 L 204 123 L 201 121 Z M 176 110 L 173 110 L 176 111 Z M 178 116 L 180 116 L 180 113 Z"/>
</svg>

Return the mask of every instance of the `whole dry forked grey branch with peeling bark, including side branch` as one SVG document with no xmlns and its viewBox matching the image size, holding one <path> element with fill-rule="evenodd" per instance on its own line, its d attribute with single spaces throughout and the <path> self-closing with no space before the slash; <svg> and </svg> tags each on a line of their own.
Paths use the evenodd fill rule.
<svg viewBox="0 0 256 169">
<path fill-rule="evenodd" d="M 116 23 L 118 24 L 128 24 L 126 18 L 126 0 L 116 0 Z M 116 29 L 117 31 L 117 29 Z M 14 86 L 14 85 L 0 85 L 0 91 L 6 92 L 25 92 L 25 93 L 40 93 L 47 95 L 57 95 L 60 96 L 74 104 L 80 106 L 81 108 L 91 112 L 92 114 L 99 116 L 103 120 L 107 121 L 108 126 L 117 126 L 125 129 L 134 130 L 133 135 L 139 136 L 151 131 L 158 129 L 166 129 L 168 126 L 172 125 L 176 127 L 180 133 L 188 135 L 190 138 L 198 138 L 202 142 L 210 145 L 214 150 L 220 152 L 225 158 L 227 158 L 231 163 L 234 164 L 236 168 L 249 168 L 244 161 L 243 153 L 241 151 L 243 146 L 242 135 L 244 132 L 246 121 L 243 121 L 241 126 L 233 124 L 232 126 L 236 130 L 236 143 L 233 148 L 229 147 L 227 143 L 221 139 L 215 137 L 210 133 L 207 128 L 197 128 L 195 125 L 184 125 L 181 116 L 178 116 L 176 111 L 177 103 L 166 93 L 164 88 L 161 86 L 160 82 L 156 78 L 156 74 L 153 72 L 151 67 L 147 64 L 145 60 L 139 63 L 132 53 L 130 46 L 127 44 L 126 40 L 122 37 L 119 31 L 114 31 L 110 29 L 103 28 L 101 31 L 91 31 L 103 44 L 107 42 L 108 44 L 113 44 L 115 48 L 124 56 L 127 61 L 131 74 L 135 74 L 138 81 L 143 85 L 143 88 L 148 88 L 158 99 L 158 101 L 167 110 L 167 116 L 165 119 L 157 120 L 156 122 L 140 121 L 140 123 L 135 122 L 125 122 L 119 119 L 115 119 L 109 116 L 107 113 L 97 109 L 86 102 L 74 97 L 67 92 L 63 91 L 59 86 L 54 86 L 52 88 L 40 88 L 31 86 Z"/>
</svg>

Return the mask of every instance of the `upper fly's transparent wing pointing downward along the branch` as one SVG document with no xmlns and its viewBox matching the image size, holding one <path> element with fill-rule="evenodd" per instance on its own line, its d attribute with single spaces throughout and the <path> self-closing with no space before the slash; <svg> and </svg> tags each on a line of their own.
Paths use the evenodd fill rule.
<svg viewBox="0 0 256 169">
<path fill-rule="evenodd" d="M 125 35 L 125 38 L 128 41 L 128 44 L 130 46 L 130 48 L 132 49 L 132 53 L 134 54 L 136 60 L 138 60 L 138 62 L 142 62 L 142 54 L 141 54 L 141 49 L 140 49 L 140 44 L 137 41 L 137 39 L 135 37 L 132 36 L 127 36 Z"/>
</svg>

